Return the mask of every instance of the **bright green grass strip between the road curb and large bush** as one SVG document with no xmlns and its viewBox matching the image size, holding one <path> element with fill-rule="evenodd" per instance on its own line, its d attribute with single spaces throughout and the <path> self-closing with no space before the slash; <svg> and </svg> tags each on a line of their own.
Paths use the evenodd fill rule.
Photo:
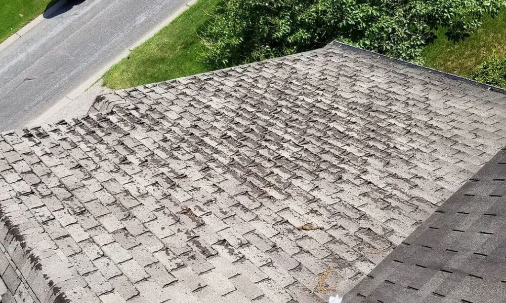
<svg viewBox="0 0 506 303">
<path fill-rule="evenodd" d="M 112 89 L 138 86 L 212 70 L 202 60 L 197 34 L 221 0 L 199 0 L 104 75 Z"/>
</svg>

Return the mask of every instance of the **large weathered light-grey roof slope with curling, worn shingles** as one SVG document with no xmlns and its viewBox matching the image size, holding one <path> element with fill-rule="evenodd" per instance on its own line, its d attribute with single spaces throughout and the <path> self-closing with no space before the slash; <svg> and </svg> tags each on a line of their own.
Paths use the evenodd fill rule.
<svg viewBox="0 0 506 303">
<path fill-rule="evenodd" d="M 337 42 L 103 96 L 2 134 L 4 280 L 40 302 L 328 301 L 504 145 L 505 99 Z"/>
</svg>

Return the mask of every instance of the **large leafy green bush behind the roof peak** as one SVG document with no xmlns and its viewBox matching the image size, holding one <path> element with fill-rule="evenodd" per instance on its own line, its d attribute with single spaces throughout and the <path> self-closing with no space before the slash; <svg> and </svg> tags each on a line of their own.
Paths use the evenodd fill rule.
<svg viewBox="0 0 506 303">
<path fill-rule="evenodd" d="M 224 0 L 202 34 L 217 68 L 321 47 L 333 39 L 413 60 L 434 31 L 460 39 L 504 0 Z"/>
</svg>

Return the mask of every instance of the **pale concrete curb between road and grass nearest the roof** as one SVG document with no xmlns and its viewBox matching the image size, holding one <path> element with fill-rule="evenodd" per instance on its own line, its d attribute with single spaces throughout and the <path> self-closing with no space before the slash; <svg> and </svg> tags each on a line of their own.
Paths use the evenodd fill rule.
<svg viewBox="0 0 506 303">
<path fill-rule="evenodd" d="M 62 0 L 67 1 L 67 0 Z M 75 88 L 73 91 L 68 93 L 65 97 L 60 99 L 60 101 L 56 102 L 55 105 L 53 105 L 51 108 L 49 108 L 44 113 L 40 114 L 38 117 L 31 120 L 30 123 L 26 125 L 28 128 L 40 126 L 45 123 L 45 121 L 55 115 L 58 111 L 62 110 L 65 105 L 67 105 L 69 102 L 75 100 L 77 97 L 79 97 L 83 92 L 85 92 L 89 87 L 91 87 L 93 84 L 95 84 L 98 80 L 102 78 L 102 76 L 115 64 L 121 61 L 121 59 L 127 57 L 130 52 L 137 46 L 141 45 L 142 43 L 146 42 L 148 39 L 153 37 L 156 33 L 158 33 L 162 28 L 167 26 L 169 23 L 174 21 L 177 17 L 179 17 L 182 13 L 184 13 L 188 8 L 193 6 L 198 0 L 190 0 L 185 5 L 183 5 L 179 10 L 174 12 L 172 15 L 168 16 L 167 19 L 162 21 L 160 24 L 158 24 L 155 28 L 153 28 L 151 31 L 149 31 L 146 35 L 144 35 L 141 39 L 139 39 L 137 42 L 132 44 L 128 49 L 120 53 L 118 56 L 116 56 L 111 62 L 109 62 L 107 65 L 105 65 L 102 69 L 100 69 L 97 73 L 95 73 L 93 76 L 91 76 L 88 80 L 81 83 L 77 88 Z"/>
</svg>

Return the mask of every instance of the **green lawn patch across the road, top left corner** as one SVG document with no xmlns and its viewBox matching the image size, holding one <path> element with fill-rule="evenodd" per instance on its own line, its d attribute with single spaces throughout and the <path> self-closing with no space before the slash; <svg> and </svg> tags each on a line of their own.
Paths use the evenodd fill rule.
<svg viewBox="0 0 506 303">
<path fill-rule="evenodd" d="M 0 0 L 0 42 L 42 14 L 55 0 Z"/>
</svg>

